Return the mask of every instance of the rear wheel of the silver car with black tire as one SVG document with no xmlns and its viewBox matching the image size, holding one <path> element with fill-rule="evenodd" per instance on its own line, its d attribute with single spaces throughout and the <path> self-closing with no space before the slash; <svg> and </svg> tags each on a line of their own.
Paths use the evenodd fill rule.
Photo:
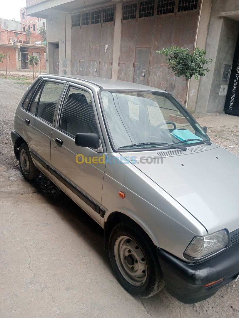
<svg viewBox="0 0 239 318">
<path fill-rule="evenodd" d="M 19 166 L 23 177 L 28 181 L 37 179 L 40 174 L 40 171 L 31 159 L 30 151 L 26 142 L 23 142 L 19 148 Z"/>
</svg>

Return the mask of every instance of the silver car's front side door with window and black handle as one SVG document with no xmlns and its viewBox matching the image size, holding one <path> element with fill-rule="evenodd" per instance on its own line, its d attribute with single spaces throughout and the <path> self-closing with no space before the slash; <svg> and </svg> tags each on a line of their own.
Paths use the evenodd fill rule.
<svg viewBox="0 0 239 318">
<path fill-rule="evenodd" d="M 77 133 L 95 133 L 103 141 L 96 116 L 92 92 L 69 85 L 51 135 L 51 173 L 56 185 L 100 222 L 106 154 L 102 146 L 75 144 Z"/>
</svg>

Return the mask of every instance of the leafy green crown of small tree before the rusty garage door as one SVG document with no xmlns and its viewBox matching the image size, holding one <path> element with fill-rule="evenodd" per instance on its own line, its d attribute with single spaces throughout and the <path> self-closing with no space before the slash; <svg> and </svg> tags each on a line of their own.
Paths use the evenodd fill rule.
<svg viewBox="0 0 239 318">
<path fill-rule="evenodd" d="M 212 63 L 212 59 L 205 59 L 206 51 L 198 47 L 192 53 L 189 49 L 178 46 L 162 49 L 156 51 L 156 53 L 168 56 L 166 60 L 175 73 L 174 75 L 177 77 L 184 76 L 187 80 L 191 79 L 192 76 L 195 76 L 195 79 L 204 76 L 205 72 L 209 72 L 209 68 L 204 67 L 204 65 Z"/>
</svg>

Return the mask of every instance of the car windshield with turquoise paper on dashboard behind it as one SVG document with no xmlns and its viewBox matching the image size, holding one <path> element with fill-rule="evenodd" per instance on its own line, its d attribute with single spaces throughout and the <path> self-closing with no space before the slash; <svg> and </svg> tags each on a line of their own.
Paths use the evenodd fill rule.
<svg viewBox="0 0 239 318">
<path fill-rule="evenodd" d="M 102 90 L 100 94 L 115 149 L 167 147 L 178 142 L 185 147 L 209 140 L 169 93 Z"/>
</svg>

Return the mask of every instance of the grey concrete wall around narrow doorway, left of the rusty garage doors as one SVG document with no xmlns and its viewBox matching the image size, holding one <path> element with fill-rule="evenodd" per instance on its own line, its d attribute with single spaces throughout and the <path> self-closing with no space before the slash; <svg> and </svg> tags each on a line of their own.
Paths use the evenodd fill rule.
<svg viewBox="0 0 239 318">
<path fill-rule="evenodd" d="M 70 74 L 71 15 L 62 12 L 52 12 L 52 15 L 47 18 L 46 32 L 47 73 L 53 74 L 53 43 L 59 42 L 59 73 Z"/>
</svg>

